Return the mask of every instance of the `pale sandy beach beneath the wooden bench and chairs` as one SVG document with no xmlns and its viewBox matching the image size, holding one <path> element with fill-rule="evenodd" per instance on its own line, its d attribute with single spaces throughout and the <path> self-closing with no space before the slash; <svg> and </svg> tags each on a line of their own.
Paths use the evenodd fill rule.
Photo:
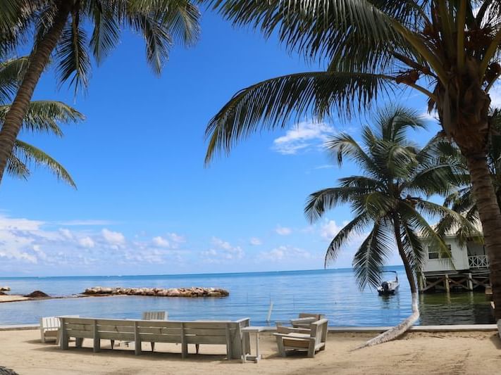
<svg viewBox="0 0 501 375">
<path fill-rule="evenodd" d="M 499 374 L 501 341 L 495 331 L 407 333 L 398 341 L 351 351 L 371 333 L 329 333 L 326 350 L 314 359 L 278 357 L 271 334 L 261 338 L 264 359 L 258 364 L 224 359 L 224 348 L 201 345 L 199 355 L 182 360 L 180 346 L 156 344 L 156 352 L 135 356 L 134 345 L 111 351 L 84 348 L 60 350 L 40 343 L 39 331 L 0 331 L 0 365 L 19 374 Z M 149 350 L 149 344 L 143 344 Z M 194 348 L 190 347 L 190 352 Z"/>
</svg>

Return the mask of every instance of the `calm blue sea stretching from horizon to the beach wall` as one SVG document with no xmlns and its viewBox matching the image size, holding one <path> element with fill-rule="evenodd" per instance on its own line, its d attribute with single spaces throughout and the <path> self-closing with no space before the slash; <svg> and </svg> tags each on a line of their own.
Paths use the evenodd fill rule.
<svg viewBox="0 0 501 375">
<path fill-rule="evenodd" d="M 192 274 L 124 277 L 6 278 L 13 294 L 35 290 L 49 295 L 78 294 L 90 286 L 225 288 L 227 298 L 162 298 L 116 296 L 0 303 L 0 324 L 35 323 L 39 317 L 78 314 L 81 317 L 140 318 L 142 311 L 166 310 L 169 319 L 240 319 L 265 325 L 270 303 L 271 324 L 298 312 L 326 314 L 331 326 L 390 326 L 411 313 L 411 295 L 402 267 L 400 291 L 380 297 L 359 291 L 351 269 L 241 274 Z M 420 297 L 420 324 L 493 323 L 483 293 L 434 293 Z"/>
</svg>

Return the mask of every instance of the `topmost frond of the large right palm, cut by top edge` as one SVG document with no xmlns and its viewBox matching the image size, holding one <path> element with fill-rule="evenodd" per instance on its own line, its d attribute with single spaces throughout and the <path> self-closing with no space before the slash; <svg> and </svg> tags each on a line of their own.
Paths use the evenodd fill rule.
<svg viewBox="0 0 501 375">
<path fill-rule="evenodd" d="M 213 0 L 224 18 L 234 25 L 251 25 L 266 37 L 278 33 L 291 50 L 308 58 L 338 56 L 339 44 L 391 45 L 400 34 L 392 20 L 411 23 L 419 16 L 414 1 L 369 0 Z M 346 37 L 349 35 L 350 37 Z"/>
</svg>

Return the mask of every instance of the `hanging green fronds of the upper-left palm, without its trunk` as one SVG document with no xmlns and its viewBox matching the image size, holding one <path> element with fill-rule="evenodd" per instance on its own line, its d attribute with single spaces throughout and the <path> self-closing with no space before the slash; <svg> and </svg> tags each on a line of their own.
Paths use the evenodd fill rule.
<svg viewBox="0 0 501 375">
<path fill-rule="evenodd" d="M 3 1 L 2 1 L 3 2 Z M 58 1 L 8 0 L 0 7 L 0 36 L 4 43 L 25 41 L 35 28 L 36 43 L 42 40 L 56 20 Z M 140 34 L 146 45 L 146 58 L 157 74 L 168 59 L 173 42 L 191 46 L 199 37 L 200 13 L 190 0 L 78 0 L 56 46 L 56 70 L 61 83 L 75 91 L 85 89 L 92 67 L 90 56 L 101 63 L 120 42 L 121 30 Z M 92 27 L 90 37 L 85 26 Z M 2 39 L 0 39 L 0 44 Z"/>
</svg>

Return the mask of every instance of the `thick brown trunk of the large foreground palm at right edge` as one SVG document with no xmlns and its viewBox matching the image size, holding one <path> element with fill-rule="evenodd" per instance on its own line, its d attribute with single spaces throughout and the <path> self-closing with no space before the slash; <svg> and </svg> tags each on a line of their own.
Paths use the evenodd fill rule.
<svg viewBox="0 0 501 375">
<path fill-rule="evenodd" d="M 495 319 L 501 319 L 501 212 L 485 155 L 464 155 L 470 172 L 475 203 L 482 223 L 489 257 L 490 284 L 496 306 Z"/>
</svg>

